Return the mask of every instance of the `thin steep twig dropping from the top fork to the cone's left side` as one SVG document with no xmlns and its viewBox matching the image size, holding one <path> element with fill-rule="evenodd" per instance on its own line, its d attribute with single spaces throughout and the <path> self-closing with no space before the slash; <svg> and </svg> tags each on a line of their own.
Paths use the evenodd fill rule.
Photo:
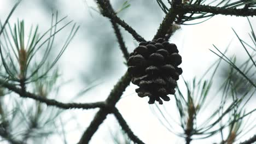
<svg viewBox="0 0 256 144">
<path fill-rule="evenodd" d="M 127 48 L 125 46 L 125 43 L 124 43 L 123 37 L 121 35 L 120 29 L 118 28 L 117 23 L 115 23 L 113 20 L 110 20 L 110 22 L 112 23 L 112 26 L 113 26 L 114 31 L 115 31 L 115 35 L 117 36 L 120 49 L 123 52 L 126 61 L 128 61 L 129 52 L 127 51 Z"/>
</svg>

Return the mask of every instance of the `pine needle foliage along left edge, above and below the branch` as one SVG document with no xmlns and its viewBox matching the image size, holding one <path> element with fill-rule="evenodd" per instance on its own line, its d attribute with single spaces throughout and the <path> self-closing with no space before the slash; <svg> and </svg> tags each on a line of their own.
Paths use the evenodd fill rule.
<svg viewBox="0 0 256 144">
<path fill-rule="evenodd" d="M 38 97 L 53 97 L 59 89 L 59 86 L 56 86 L 59 71 L 56 68 L 53 70 L 53 67 L 78 31 L 78 27 L 73 25 L 59 54 L 55 59 L 49 59 L 55 35 L 71 22 L 59 26 L 66 17 L 59 20 L 57 14 L 53 14 L 50 28 L 43 34 L 39 34 L 38 26 L 31 26 L 30 31 L 26 31 L 23 20 L 18 20 L 11 26 L 8 20 L 18 4 L 19 2 L 15 4 L 7 20 L 3 24 L 0 22 L 0 78 L 4 82 L 31 89 Z M 0 136 L 3 140 L 10 143 L 27 143 L 40 139 L 40 142 L 44 143 L 49 135 L 58 132 L 59 123 L 55 120 L 61 110 L 46 107 L 39 101 L 17 98 L 2 87 L 4 82 L 0 83 Z"/>
</svg>

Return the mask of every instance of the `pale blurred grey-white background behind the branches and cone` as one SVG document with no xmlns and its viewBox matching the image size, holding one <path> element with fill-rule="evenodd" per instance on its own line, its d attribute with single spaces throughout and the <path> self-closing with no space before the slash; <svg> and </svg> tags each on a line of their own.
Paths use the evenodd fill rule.
<svg viewBox="0 0 256 144">
<path fill-rule="evenodd" d="M 125 1 L 110 2 L 113 8 L 118 10 L 121 9 Z M 15 3 L 16 1 L 13 0 L 0 1 L 0 20 L 2 22 Z M 158 3 L 153 0 L 131 0 L 128 3 L 130 7 L 122 10 L 118 16 L 144 39 L 151 40 L 165 14 L 159 8 Z M 38 25 L 39 32 L 43 33 L 50 27 L 51 14 L 56 11 L 58 11 L 59 18 L 68 16 L 65 22 L 73 20 L 80 28 L 56 65 L 60 74 L 56 85 L 60 87 L 58 92 L 50 94 L 49 98 L 66 103 L 71 101 L 89 103 L 105 100 L 127 67 L 112 25 L 106 17 L 99 13 L 98 6 L 94 1 L 24 0 L 14 11 L 9 22 L 10 25 L 13 25 L 18 19 L 23 19 L 25 28 L 30 29 L 31 25 Z M 255 25 L 255 17 L 249 17 L 249 20 Z M 213 44 L 221 51 L 225 51 L 229 46 L 226 56 L 236 55 L 238 64 L 248 59 L 246 51 L 241 47 L 231 28 L 234 28 L 242 39 L 249 39 L 248 33 L 251 32 L 251 28 L 246 17 L 235 16 L 217 15 L 197 25 L 181 25 L 181 28 L 174 33 L 169 41 L 177 45 L 182 56 L 182 75 L 186 81 L 192 80 L 195 76 L 200 77 L 218 59 L 218 56 L 209 50 L 214 50 Z M 69 29 L 63 29 L 56 35 L 53 55 L 57 55 L 59 52 L 58 46 L 63 45 L 62 39 L 68 36 Z M 120 27 L 120 29 L 129 52 L 133 51 L 138 45 L 137 41 L 123 28 Z M 229 65 L 221 63 L 213 80 L 212 91 L 218 91 L 219 83 L 228 75 L 227 71 L 229 71 Z M 236 79 L 237 77 L 234 77 L 234 81 Z M 183 80 L 180 79 L 178 82 L 183 83 Z M 135 93 L 135 88 L 137 86 L 131 83 L 117 104 L 133 132 L 145 143 L 184 143 L 184 139 L 174 135 L 160 123 L 158 116 L 152 112 L 154 106 L 148 104 L 147 98 L 139 98 Z M 211 97 L 214 97 L 210 104 L 213 107 L 218 107 L 218 100 L 222 95 L 214 94 L 216 92 L 210 93 Z M 18 96 L 14 97 L 18 98 Z M 164 105 L 168 107 L 168 113 L 175 119 L 178 117 L 178 113 L 174 106 L 174 98 L 172 95 L 170 97 L 171 101 L 165 102 Z M 30 101 L 29 99 L 25 100 Z M 249 101 L 247 109 L 248 111 L 255 109 L 255 98 Z M 44 138 L 37 137 L 28 143 L 65 143 L 65 141 L 66 143 L 76 143 L 94 118 L 97 110 L 62 111 L 61 115 L 54 120 L 59 127 L 48 128 L 56 129 L 57 133 Z M 206 107 L 205 115 L 202 118 L 207 116 L 208 110 L 210 111 L 211 108 Z M 255 119 L 255 113 L 252 114 L 251 119 Z M 178 129 L 178 127 L 174 125 L 173 129 Z M 246 140 L 255 133 L 256 129 L 254 128 L 240 140 Z M 90 143 L 114 143 L 114 139 L 125 143 L 125 137 L 117 120 L 114 116 L 108 115 Z M 194 140 L 191 143 L 214 142 L 220 142 L 219 134 L 208 139 Z M 5 142 L 0 141 L 0 143 Z"/>
</svg>

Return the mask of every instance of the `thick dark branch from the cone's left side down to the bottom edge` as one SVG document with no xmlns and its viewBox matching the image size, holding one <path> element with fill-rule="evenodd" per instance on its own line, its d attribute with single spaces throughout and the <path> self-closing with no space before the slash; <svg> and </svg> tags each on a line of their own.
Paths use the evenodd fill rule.
<svg viewBox="0 0 256 144">
<path fill-rule="evenodd" d="M 90 123 L 89 127 L 85 130 L 82 135 L 79 144 L 89 143 L 91 137 L 97 131 L 98 127 L 104 121 L 111 109 L 117 104 L 118 100 L 121 98 L 121 95 L 125 91 L 126 87 L 129 86 L 131 81 L 131 76 L 126 71 L 125 75 L 121 77 L 118 83 L 114 86 L 110 92 L 108 98 L 106 99 L 106 107 L 101 108 L 95 115 L 94 119 Z"/>
</svg>

